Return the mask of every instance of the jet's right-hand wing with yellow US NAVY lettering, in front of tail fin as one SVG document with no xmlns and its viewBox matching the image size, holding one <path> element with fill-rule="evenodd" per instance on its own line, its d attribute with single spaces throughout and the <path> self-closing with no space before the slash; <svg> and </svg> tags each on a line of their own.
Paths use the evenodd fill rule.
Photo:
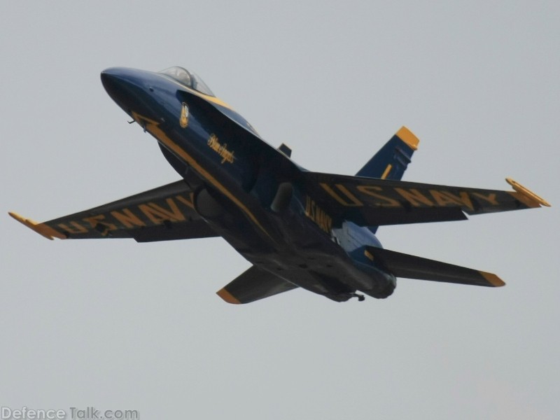
<svg viewBox="0 0 560 420">
<path fill-rule="evenodd" d="M 303 172 L 306 214 L 319 226 L 326 220 L 358 225 L 396 225 L 464 220 L 466 214 L 549 206 L 519 183 L 512 191 Z M 328 225 L 328 223 L 327 223 Z"/>
</svg>

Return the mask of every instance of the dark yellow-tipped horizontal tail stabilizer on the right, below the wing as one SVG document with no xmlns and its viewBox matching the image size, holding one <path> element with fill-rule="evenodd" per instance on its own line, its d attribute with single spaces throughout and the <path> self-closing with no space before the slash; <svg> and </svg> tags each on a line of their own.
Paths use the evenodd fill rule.
<svg viewBox="0 0 560 420">
<path fill-rule="evenodd" d="M 377 267 L 390 272 L 396 277 L 445 283 L 471 284 L 473 286 L 499 287 L 505 283 L 496 274 L 486 273 L 477 269 L 460 267 L 414 255 L 388 251 L 383 248 L 367 246 L 366 256 Z"/>
</svg>

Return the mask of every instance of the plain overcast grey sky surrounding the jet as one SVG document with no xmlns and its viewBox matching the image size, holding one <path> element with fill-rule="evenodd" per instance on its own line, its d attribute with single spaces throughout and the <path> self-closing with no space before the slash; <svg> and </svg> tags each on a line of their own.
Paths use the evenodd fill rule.
<svg viewBox="0 0 560 420">
<path fill-rule="evenodd" d="M 0 3 L 0 405 L 142 419 L 556 419 L 560 6 L 555 1 Z M 44 221 L 178 179 L 104 92 L 110 66 L 199 73 L 308 169 L 354 174 L 407 125 L 405 179 L 552 209 L 386 227 L 386 248 L 507 286 L 402 279 L 388 300 L 214 293 L 222 239 L 47 241 Z"/>
</svg>

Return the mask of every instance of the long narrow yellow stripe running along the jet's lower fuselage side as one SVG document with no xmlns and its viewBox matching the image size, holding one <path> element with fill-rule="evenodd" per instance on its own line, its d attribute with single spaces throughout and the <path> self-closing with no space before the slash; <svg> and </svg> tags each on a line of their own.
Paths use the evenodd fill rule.
<svg viewBox="0 0 560 420">
<path fill-rule="evenodd" d="M 167 146 L 171 151 L 173 151 L 173 153 L 179 155 L 183 160 L 185 160 L 185 162 L 188 165 L 190 165 L 190 167 L 193 167 L 193 169 L 195 169 L 195 171 L 197 171 L 200 175 L 204 176 L 204 179 L 207 179 L 207 181 L 209 181 L 214 187 L 218 188 L 218 190 L 220 190 L 220 192 L 223 193 L 223 195 L 225 195 L 230 200 L 232 200 L 232 202 L 234 202 L 237 205 L 237 207 L 239 207 L 239 209 L 241 209 L 248 216 L 248 218 L 250 218 L 251 221 L 253 221 L 253 223 L 256 226 L 258 226 L 258 228 L 262 230 L 262 232 L 265 233 L 265 235 L 267 235 L 267 237 L 273 239 L 272 236 L 267 232 L 267 230 L 262 227 L 262 225 L 259 223 L 259 221 L 255 217 L 255 215 L 251 212 L 251 210 L 249 210 L 245 206 L 245 204 L 239 201 L 239 199 L 235 197 L 235 195 L 233 195 L 230 192 L 230 190 L 225 188 L 225 186 L 223 186 L 222 183 L 220 183 L 220 181 L 218 181 L 206 169 L 200 166 L 200 164 L 195 160 L 195 158 L 189 155 L 185 151 L 185 149 L 183 149 L 181 146 L 179 146 L 179 144 L 176 144 L 172 139 L 170 139 L 167 136 L 167 134 L 165 134 L 165 132 L 162 129 L 160 129 L 160 127 L 158 127 L 159 123 L 157 121 L 141 116 L 138 113 L 135 113 L 134 111 L 132 111 L 132 118 L 134 118 L 134 120 L 136 120 L 137 123 L 139 123 L 139 125 L 141 126 L 143 121 L 146 122 L 145 125 L 146 131 L 148 131 L 150 134 L 153 135 L 153 137 L 161 141 L 162 144 L 165 144 L 165 146 Z"/>
</svg>

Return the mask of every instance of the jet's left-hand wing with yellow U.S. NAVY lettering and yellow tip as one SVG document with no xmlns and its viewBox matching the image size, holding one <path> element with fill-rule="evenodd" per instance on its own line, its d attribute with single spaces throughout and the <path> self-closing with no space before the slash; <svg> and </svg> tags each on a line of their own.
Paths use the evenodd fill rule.
<svg viewBox="0 0 560 420">
<path fill-rule="evenodd" d="M 43 223 L 11 212 L 10 216 L 48 239 L 134 238 L 150 242 L 218 236 L 196 213 L 193 191 L 183 181 Z"/>
</svg>

